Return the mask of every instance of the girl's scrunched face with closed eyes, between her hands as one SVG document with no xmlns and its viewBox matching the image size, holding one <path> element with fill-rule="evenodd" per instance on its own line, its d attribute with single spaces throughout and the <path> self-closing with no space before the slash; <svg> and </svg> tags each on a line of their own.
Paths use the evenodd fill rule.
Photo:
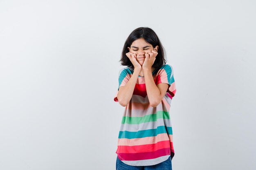
<svg viewBox="0 0 256 170">
<path fill-rule="evenodd" d="M 151 52 L 152 50 L 158 50 L 158 46 L 155 48 L 147 43 L 143 38 L 139 38 L 132 42 L 131 46 L 128 47 L 129 51 L 137 55 L 136 60 L 142 66 L 145 61 L 145 53 Z"/>
</svg>

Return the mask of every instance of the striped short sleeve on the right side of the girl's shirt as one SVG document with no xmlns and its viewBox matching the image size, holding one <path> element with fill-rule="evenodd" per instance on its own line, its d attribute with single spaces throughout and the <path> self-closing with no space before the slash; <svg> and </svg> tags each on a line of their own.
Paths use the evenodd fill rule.
<svg viewBox="0 0 256 170">
<path fill-rule="evenodd" d="M 156 85 L 160 83 L 169 84 L 166 93 L 168 93 L 168 95 L 171 95 L 171 97 L 174 97 L 176 93 L 176 86 L 173 77 L 173 67 L 171 65 L 165 64 L 160 68 L 160 71 L 157 75 Z"/>
</svg>

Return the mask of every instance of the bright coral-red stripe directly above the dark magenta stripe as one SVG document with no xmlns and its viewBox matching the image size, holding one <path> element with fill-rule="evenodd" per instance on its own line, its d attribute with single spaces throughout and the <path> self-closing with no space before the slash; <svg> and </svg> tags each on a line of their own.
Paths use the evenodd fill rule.
<svg viewBox="0 0 256 170">
<path fill-rule="evenodd" d="M 159 141 L 155 144 L 145 144 L 136 146 L 118 146 L 120 153 L 138 153 L 138 152 L 152 152 L 163 148 L 171 148 L 170 141 Z"/>
</svg>

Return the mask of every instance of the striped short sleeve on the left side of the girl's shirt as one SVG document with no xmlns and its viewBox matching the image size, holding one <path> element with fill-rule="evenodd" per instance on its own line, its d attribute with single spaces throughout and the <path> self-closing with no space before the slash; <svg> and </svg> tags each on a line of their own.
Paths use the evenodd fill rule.
<svg viewBox="0 0 256 170">
<path fill-rule="evenodd" d="M 121 86 L 125 86 L 126 83 L 128 83 L 129 79 L 130 79 L 130 75 L 131 75 L 131 71 L 129 68 L 122 68 L 120 71 L 119 71 L 119 75 L 118 75 L 118 82 L 119 82 L 119 85 L 118 85 L 118 88 L 117 88 L 117 93 L 114 97 L 114 101 L 115 102 L 118 102 L 118 99 L 117 99 L 117 94 L 118 94 L 118 91 L 119 91 L 119 88 Z"/>
</svg>

